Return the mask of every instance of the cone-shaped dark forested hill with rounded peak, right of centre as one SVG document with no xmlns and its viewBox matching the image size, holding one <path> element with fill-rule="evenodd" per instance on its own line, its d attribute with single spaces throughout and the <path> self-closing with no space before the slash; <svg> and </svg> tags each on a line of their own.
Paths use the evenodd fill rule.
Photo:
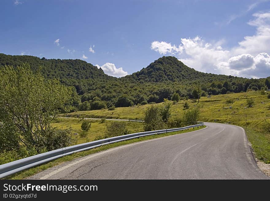
<svg viewBox="0 0 270 201">
<path fill-rule="evenodd" d="M 141 71 L 135 72 L 132 75 L 127 75 L 122 79 L 143 80 L 145 82 L 180 82 L 184 79 L 243 79 L 231 75 L 216 75 L 212 73 L 203 73 L 189 68 L 174 56 L 163 56 L 155 60 Z"/>
</svg>

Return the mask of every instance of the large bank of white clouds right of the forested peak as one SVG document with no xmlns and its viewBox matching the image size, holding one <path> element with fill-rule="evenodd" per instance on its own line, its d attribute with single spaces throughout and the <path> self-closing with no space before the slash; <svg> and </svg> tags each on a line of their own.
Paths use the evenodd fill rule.
<svg viewBox="0 0 270 201">
<path fill-rule="evenodd" d="M 153 41 L 151 49 L 161 55 L 176 55 L 187 66 L 198 71 L 245 77 L 269 76 L 270 12 L 255 13 L 248 25 L 256 27 L 253 36 L 245 36 L 237 46 L 224 49 L 225 40 L 212 43 L 201 37 L 181 38 L 181 43 Z M 176 54 L 177 53 L 177 54 Z M 268 70 L 268 71 L 266 71 Z"/>
</svg>

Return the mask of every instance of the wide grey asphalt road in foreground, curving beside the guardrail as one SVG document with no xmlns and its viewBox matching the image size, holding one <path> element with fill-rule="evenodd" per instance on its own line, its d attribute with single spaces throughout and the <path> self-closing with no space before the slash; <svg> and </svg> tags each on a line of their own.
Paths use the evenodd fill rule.
<svg viewBox="0 0 270 201">
<path fill-rule="evenodd" d="M 206 126 L 88 155 L 29 179 L 269 179 L 257 167 L 242 128 Z"/>
</svg>

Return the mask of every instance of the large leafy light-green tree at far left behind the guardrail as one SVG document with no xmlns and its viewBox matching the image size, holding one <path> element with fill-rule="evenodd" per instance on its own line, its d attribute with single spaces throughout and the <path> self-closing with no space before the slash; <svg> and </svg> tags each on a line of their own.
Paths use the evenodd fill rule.
<svg viewBox="0 0 270 201">
<path fill-rule="evenodd" d="M 45 81 L 40 70 L 34 74 L 29 64 L 22 64 L 16 70 L 0 68 L 0 94 L 0 122 L 16 128 L 20 146 L 43 152 L 44 133 L 71 91 L 56 79 Z"/>
</svg>

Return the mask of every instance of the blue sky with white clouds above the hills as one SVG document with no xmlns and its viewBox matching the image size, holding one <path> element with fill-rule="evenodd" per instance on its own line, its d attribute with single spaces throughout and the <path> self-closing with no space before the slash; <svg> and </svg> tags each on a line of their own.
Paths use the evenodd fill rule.
<svg viewBox="0 0 270 201">
<path fill-rule="evenodd" d="M 270 75 L 270 2 L 1 0 L 0 52 L 83 59 L 124 76 L 161 56 L 202 72 Z"/>
</svg>

